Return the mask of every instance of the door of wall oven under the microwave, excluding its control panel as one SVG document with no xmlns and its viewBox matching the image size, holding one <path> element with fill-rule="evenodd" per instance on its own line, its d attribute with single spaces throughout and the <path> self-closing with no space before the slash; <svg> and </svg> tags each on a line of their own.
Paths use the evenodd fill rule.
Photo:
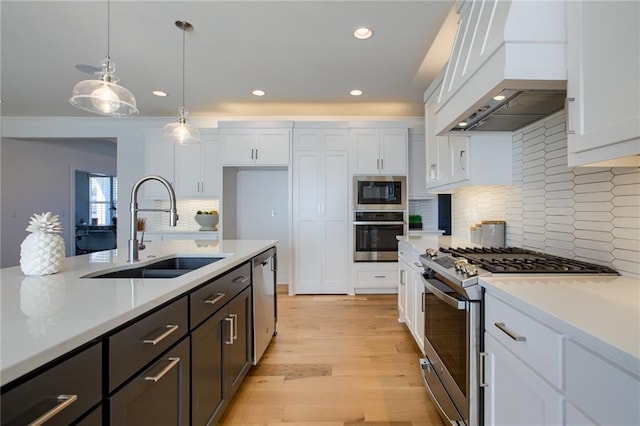
<svg viewBox="0 0 640 426">
<path fill-rule="evenodd" d="M 397 262 L 404 222 L 353 222 L 355 262 Z"/>
</svg>

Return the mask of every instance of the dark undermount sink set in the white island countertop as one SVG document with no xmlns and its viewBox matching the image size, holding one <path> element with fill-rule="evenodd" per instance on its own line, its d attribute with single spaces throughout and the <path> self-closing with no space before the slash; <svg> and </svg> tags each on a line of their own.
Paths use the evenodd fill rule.
<svg viewBox="0 0 640 426">
<path fill-rule="evenodd" d="M 222 259 L 224 257 L 172 257 L 137 268 L 93 272 L 82 278 L 176 278 Z"/>
</svg>

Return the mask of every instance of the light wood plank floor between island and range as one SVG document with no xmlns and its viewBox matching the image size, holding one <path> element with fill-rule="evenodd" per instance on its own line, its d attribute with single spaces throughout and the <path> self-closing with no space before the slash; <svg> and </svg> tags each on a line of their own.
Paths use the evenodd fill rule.
<svg viewBox="0 0 640 426">
<path fill-rule="evenodd" d="M 396 295 L 279 294 L 277 329 L 221 424 L 441 424 Z"/>
</svg>

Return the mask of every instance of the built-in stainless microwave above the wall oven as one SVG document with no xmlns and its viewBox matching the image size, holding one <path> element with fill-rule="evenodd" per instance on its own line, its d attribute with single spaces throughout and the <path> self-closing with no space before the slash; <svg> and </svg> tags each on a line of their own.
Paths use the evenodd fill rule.
<svg viewBox="0 0 640 426">
<path fill-rule="evenodd" d="M 354 176 L 354 210 L 405 210 L 407 178 L 405 176 Z"/>
</svg>

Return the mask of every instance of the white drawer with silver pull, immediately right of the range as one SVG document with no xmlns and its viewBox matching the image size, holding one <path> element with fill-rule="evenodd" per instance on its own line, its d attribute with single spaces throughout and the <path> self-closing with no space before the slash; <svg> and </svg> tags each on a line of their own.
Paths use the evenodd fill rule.
<svg viewBox="0 0 640 426">
<path fill-rule="evenodd" d="M 556 388 L 562 388 L 562 335 L 485 294 L 485 330 Z"/>
</svg>

